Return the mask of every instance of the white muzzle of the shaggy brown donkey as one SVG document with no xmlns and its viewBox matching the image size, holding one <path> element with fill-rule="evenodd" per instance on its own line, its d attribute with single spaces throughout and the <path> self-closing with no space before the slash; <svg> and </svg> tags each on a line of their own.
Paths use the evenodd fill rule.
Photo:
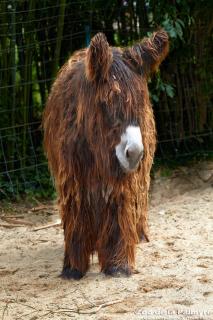
<svg viewBox="0 0 213 320">
<path fill-rule="evenodd" d="M 143 157 L 143 142 L 139 126 L 130 125 L 115 147 L 116 157 L 125 172 L 135 171 Z"/>
</svg>

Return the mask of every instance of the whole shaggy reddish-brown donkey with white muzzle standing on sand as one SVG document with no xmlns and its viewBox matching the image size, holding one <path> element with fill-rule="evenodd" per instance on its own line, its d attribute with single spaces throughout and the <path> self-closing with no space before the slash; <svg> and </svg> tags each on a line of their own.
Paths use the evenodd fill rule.
<svg viewBox="0 0 213 320">
<path fill-rule="evenodd" d="M 98 253 L 105 274 L 131 274 L 148 241 L 155 122 L 147 78 L 168 53 L 160 30 L 131 48 L 98 33 L 61 68 L 44 112 L 44 146 L 64 227 L 62 276 L 80 279 Z"/>
</svg>

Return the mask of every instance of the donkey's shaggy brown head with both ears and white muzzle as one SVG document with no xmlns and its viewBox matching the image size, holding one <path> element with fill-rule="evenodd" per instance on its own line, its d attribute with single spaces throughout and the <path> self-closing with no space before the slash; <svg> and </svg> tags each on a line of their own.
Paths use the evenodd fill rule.
<svg viewBox="0 0 213 320">
<path fill-rule="evenodd" d="M 143 108 L 149 104 L 147 79 L 168 53 L 163 30 L 131 48 L 111 48 L 102 33 L 92 38 L 86 52 L 86 78 L 97 88 L 105 135 L 125 172 L 137 169 L 144 147 Z M 149 128 L 147 128 L 149 130 Z M 147 132 L 147 134 L 149 134 Z M 116 136 L 116 137 L 115 137 Z"/>
</svg>

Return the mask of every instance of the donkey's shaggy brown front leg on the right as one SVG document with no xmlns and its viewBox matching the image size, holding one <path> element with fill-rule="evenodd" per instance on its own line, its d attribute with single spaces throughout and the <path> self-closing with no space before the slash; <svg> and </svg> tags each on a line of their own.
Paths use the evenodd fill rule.
<svg viewBox="0 0 213 320">
<path fill-rule="evenodd" d="M 135 264 L 136 225 L 122 199 L 107 208 L 98 238 L 101 270 L 107 275 L 131 275 Z"/>
</svg>

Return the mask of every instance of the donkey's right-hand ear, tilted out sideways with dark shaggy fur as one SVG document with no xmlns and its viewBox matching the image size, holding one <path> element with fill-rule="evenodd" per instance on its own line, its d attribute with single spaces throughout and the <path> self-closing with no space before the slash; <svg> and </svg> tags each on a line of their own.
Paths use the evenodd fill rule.
<svg viewBox="0 0 213 320">
<path fill-rule="evenodd" d="M 124 50 L 123 57 L 138 72 L 149 76 L 158 69 L 168 51 L 168 34 L 164 30 L 159 30 L 150 38 L 144 38 L 141 43 Z"/>
</svg>

